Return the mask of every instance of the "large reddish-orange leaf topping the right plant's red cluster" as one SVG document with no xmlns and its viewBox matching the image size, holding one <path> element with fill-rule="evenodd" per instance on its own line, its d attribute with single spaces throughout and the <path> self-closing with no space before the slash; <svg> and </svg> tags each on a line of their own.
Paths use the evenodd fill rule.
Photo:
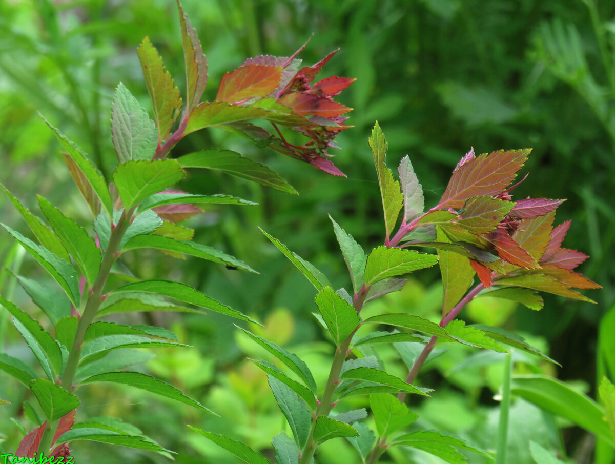
<svg viewBox="0 0 615 464">
<path fill-rule="evenodd" d="M 529 153 L 530 150 L 499 150 L 470 159 L 453 171 L 437 208 L 459 208 L 474 196 L 501 193 L 515 178 Z"/>
</svg>

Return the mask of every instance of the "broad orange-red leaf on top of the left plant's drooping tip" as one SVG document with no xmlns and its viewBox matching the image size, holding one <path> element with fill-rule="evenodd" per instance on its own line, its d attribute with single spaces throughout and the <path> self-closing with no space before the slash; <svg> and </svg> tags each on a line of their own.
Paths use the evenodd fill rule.
<svg viewBox="0 0 615 464">
<path fill-rule="evenodd" d="M 218 102 L 240 102 L 271 94 L 282 78 L 282 66 L 247 65 L 224 74 L 218 87 Z"/>
</svg>

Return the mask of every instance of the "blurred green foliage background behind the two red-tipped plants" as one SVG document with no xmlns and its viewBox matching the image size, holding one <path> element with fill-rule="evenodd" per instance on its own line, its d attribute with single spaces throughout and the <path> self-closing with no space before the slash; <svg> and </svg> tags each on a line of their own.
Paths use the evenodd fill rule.
<svg viewBox="0 0 615 464">
<path fill-rule="evenodd" d="M 288 56 L 312 34 L 300 55 L 304 64 L 340 48 L 319 78 L 357 78 L 336 97 L 354 108 L 348 122 L 355 127 L 338 137 L 341 151 L 335 159 L 348 178 L 327 176 L 223 131 L 199 132 L 180 143 L 175 156 L 210 147 L 236 150 L 280 172 L 300 193 L 289 196 L 215 174 L 194 174 L 185 181 L 183 188 L 192 193 L 234 194 L 260 203 L 208 210 L 189 225 L 196 228 L 197 242 L 236 255 L 261 274 L 242 274 L 192 258 L 172 260 L 154 252 L 133 254 L 126 264 L 140 278 L 181 280 L 260 318 L 266 325 L 264 335 L 306 354 L 322 378 L 328 372 L 331 347 L 311 316 L 313 289 L 256 226 L 311 260 L 335 286 L 347 287 L 327 214 L 364 248 L 382 243 L 378 183 L 367 145 L 376 119 L 389 142 L 389 167 L 395 168 L 409 154 L 427 205 L 437 201 L 455 163 L 470 146 L 477 153 L 533 147 L 522 173 L 530 172 L 530 177 L 515 191 L 515 198 L 568 199 L 558 209 L 556 223 L 573 220 L 564 246 L 591 255 L 579 270 L 604 287 L 588 294 L 598 304 L 545 295 L 540 313 L 501 302 L 477 302 L 464 317 L 531 337 L 563 366 L 543 369 L 579 381 L 580 388 L 593 396 L 598 328 L 603 316 L 615 311 L 615 4 L 603 3 L 597 7 L 591 0 L 184 0 L 208 57 L 208 100 L 215 96 L 224 72 L 246 57 Z M 80 222 L 90 221 L 59 147 L 37 111 L 82 146 L 109 177 L 116 162 L 109 118 L 117 83 L 124 82 L 151 109 L 136 54 L 145 36 L 183 91 L 181 35 L 172 0 L 0 2 L 0 182 L 34 212 L 38 193 Z M 5 198 L 0 198 L 0 217 L 25 232 Z M 20 263 L 7 234 L 0 238 L 0 258 L 26 276 L 46 278 L 30 258 Z M 26 295 L 13 290 L 12 278 L 6 272 L 1 276 L 2 290 L 14 293 L 16 302 L 36 314 Z M 437 271 L 418 274 L 418 280 L 383 304 L 426 317 L 437 315 L 438 277 Z M 229 433 L 256 449 L 266 448 L 284 418 L 263 373 L 245 361 L 246 353 L 256 353 L 255 347 L 236 334 L 232 321 L 213 314 L 141 317 L 145 316 L 130 320 L 170 327 L 194 345 L 183 351 L 152 351 L 156 358 L 149 361 L 149 372 L 185 389 L 222 418 L 204 417 L 130 389 L 92 387 L 80 393 L 84 407 L 77 420 L 103 414 L 122 417 L 180 452 L 180 463 L 236 462 L 189 432 L 186 423 Z M 28 358 L 6 315 L 2 315 L 2 335 L 4 351 Z M 390 359 L 404 375 L 392 353 L 384 350 L 379 356 Z M 491 397 L 498 390 L 501 359 L 453 372 L 468 356 L 475 353 L 455 348 L 426 368 L 419 377 L 421 384 L 436 388 L 438 394 L 419 407 L 428 428 L 469 436 L 489 448 L 497 405 Z M 598 372 L 601 369 L 598 364 Z M 3 446 L 10 450 L 20 440 L 10 418 L 31 430 L 34 425 L 23 416 L 20 404 L 32 399 L 24 398 L 23 388 L 5 375 L 0 378 L 0 398 L 12 402 L 0 410 L 0 434 L 9 437 Z M 519 425 L 513 428 L 518 430 L 515 437 L 527 434 L 562 452 L 565 448 L 574 462 L 591 462 L 592 442 L 581 430 L 564 428 L 560 434 L 559 427 L 566 424 L 554 423 L 521 401 L 515 408 L 512 420 Z M 333 448 L 338 445 L 341 449 Z M 510 462 L 530 462 L 526 442 L 511 439 L 510 446 Z M 356 461 L 341 440 L 329 442 L 322 453 L 322 462 Z M 165 461 L 90 442 L 75 444 L 74 455 L 82 462 L 97 463 Z M 408 462 L 408 455 L 388 458 Z M 424 455 L 413 459 L 439 462 Z"/>
</svg>

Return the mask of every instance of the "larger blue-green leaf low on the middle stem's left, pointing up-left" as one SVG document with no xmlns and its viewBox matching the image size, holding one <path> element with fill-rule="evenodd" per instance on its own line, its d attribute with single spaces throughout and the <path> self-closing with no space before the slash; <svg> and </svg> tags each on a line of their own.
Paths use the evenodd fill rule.
<svg viewBox="0 0 615 464">
<path fill-rule="evenodd" d="M 312 427 L 312 412 L 289 386 L 272 375 L 268 375 L 267 378 L 273 396 L 293 432 L 296 446 L 303 449 Z"/>
</svg>

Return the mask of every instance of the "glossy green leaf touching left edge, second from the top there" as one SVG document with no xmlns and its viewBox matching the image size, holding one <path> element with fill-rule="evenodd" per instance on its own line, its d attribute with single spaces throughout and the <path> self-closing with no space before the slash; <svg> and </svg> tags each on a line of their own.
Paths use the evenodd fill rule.
<svg viewBox="0 0 615 464">
<path fill-rule="evenodd" d="M 81 293 L 79 292 L 79 279 L 77 278 L 77 273 L 73 266 L 62 258 L 58 258 L 57 255 L 46 248 L 37 245 L 30 239 L 25 238 L 22 234 L 12 230 L 9 226 L 4 224 L 2 224 L 2 226 L 14 236 L 26 251 L 28 251 L 54 280 L 60 284 L 60 287 L 66 292 L 66 295 L 68 295 L 73 305 L 78 308 Z"/>
</svg>

